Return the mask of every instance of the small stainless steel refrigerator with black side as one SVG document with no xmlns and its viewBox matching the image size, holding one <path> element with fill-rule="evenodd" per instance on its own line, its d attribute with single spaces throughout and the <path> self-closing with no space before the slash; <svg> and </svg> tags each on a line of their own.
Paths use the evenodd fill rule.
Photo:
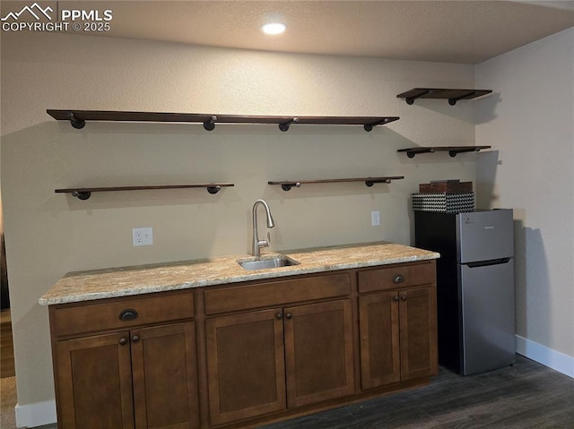
<svg viewBox="0 0 574 429">
<path fill-rule="evenodd" d="M 482 373 L 515 362 L 512 210 L 415 211 L 415 245 L 437 261 L 439 365 Z"/>
</svg>

